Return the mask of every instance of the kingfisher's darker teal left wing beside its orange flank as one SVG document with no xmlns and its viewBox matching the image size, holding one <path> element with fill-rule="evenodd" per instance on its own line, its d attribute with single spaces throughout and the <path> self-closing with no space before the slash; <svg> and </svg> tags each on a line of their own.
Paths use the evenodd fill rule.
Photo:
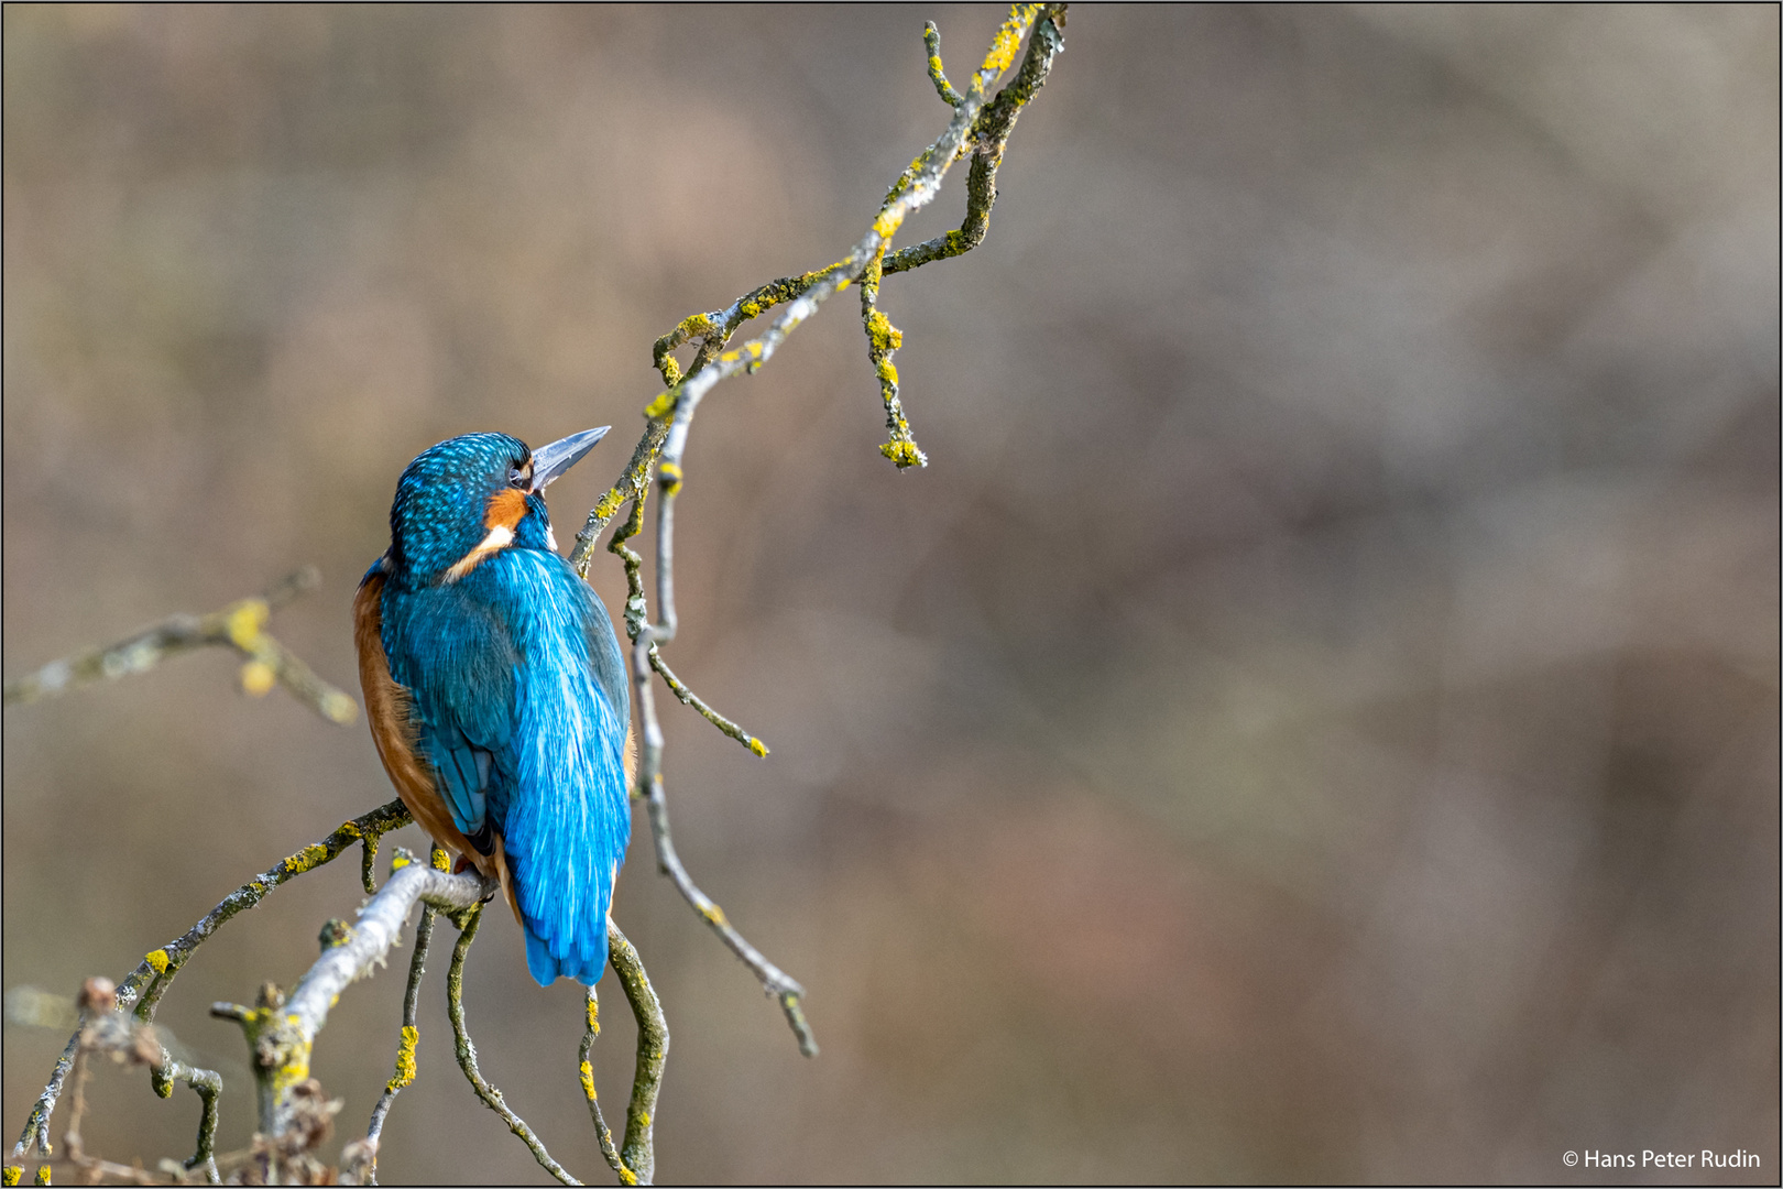
<svg viewBox="0 0 1783 1189">
<path fill-rule="evenodd" d="M 480 594 L 465 585 L 389 590 L 383 644 L 390 676 L 414 692 L 415 742 L 453 825 L 489 854 L 489 791 L 514 734 L 519 652 L 506 615 Z"/>
</svg>

